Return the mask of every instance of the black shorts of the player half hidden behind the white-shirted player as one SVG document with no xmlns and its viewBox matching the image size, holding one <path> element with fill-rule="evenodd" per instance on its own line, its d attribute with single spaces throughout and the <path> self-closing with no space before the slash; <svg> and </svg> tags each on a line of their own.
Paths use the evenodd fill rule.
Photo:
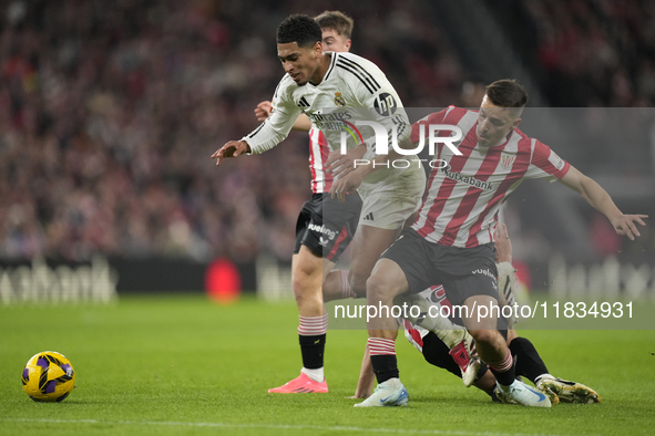
<svg viewBox="0 0 655 436">
<path fill-rule="evenodd" d="M 360 211 L 361 198 L 357 194 L 347 195 L 344 203 L 329 194 L 314 194 L 298 216 L 294 253 L 305 246 L 316 256 L 336 262 L 352 240 Z"/>
</svg>

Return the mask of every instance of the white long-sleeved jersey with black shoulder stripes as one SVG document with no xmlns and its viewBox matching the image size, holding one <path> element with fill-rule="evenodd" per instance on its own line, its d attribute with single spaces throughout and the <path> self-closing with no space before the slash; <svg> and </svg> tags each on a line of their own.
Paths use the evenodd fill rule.
<svg viewBox="0 0 655 436">
<path fill-rule="evenodd" d="M 389 149 L 392 132 L 396 132 L 398 144 L 409 138 L 411 125 L 385 73 L 372 62 L 352 53 L 327 54 L 331 61 L 318 85 L 299 86 L 288 74 L 282 79 L 272 100 L 272 115 L 243 138 L 253 154 L 263 153 L 284 141 L 301 112 L 324 133 L 331 149 L 339 149 L 344 139 L 348 149 L 364 142 L 368 148 L 365 159 L 376 156 L 376 135 L 372 127 L 356 125 L 358 121 L 381 124 L 387 131 Z M 367 176 L 361 186 L 367 188 L 367 185 L 370 187 L 382 179 L 396 179 L 406 170 L 419 169 L 422 170 L 418 164 L 408 168 L 382 168 Z"/>
</svg>

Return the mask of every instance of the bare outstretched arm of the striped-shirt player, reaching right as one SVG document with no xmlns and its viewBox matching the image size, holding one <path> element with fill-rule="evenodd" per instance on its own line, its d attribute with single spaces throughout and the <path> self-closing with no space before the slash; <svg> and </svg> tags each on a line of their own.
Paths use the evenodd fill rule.
<svg viewBox="0 0 655 436">
<path fill-rule="evenodd" d="M 560 181 L 575 190 L 596 210 L 605 215 L 618 235 L 625 235 L 631 240 L 634 240 L 635 236 L 642 236 L 636 224 L 646 226 L 642 218 L 648 218 L 648 216 L 643 214 L 624 215 L 616 207 L 610 194 L 591 177 L 571 166 L 569 173 Z"/>
</svg>

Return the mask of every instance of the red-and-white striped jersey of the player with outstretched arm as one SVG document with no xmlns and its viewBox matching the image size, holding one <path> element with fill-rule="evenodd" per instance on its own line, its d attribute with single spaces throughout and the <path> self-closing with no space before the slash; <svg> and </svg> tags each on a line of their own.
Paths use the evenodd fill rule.
<svg viewBox="0 0 655 436">
<path fill-rule="evenodd" d="M 421 131 L 428 134 L 430 124 L 457 125 L 463 134 L 458 146 L 461 156 L 438 144 L 434 159 L 446 160 L 448 165 L 439 168 L 439 163 L 433 164 L 426 199 L 412 226 L 430 242 L 460 248 L 493 242 L 497 214 L 521 181 L 528 178 L 555 181 L 571 167 L 547 145 L 518 128 L 500 145 L 480 146 L 478 111 L 449 106 L 430 114 L 413 124 L 413 143 L 419 142 Z M 439 132 L 439 136 L 450 133 Z"/>
</svg>

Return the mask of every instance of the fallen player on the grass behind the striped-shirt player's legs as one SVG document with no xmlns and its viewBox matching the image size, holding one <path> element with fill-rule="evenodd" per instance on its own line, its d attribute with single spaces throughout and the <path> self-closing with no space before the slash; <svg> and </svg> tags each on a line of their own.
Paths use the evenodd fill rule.
<svg viewBox="0 0 655 436">
<path fill-rule="evenodd" d="M 501 305 L 513 307 L 515 303 L 513 294 L 515 277 L 514 268 L 512 267 L 512 246 L 504 225 L 502 225 L 502 233 L 500 227 L 497 227 L 495 248 L 500 303 Z M 423 355 L 428 363 L 462 377 L 467 386 L 474 385 L 489 394 L 493 401 L 514 403 L 497 388 L 495 377 L 489 371 L 488 365 L 479 360 L 475 353 L 474 342 L 461 326 L 461 320 L 439 318 L 439 330 L 431 331 L 426 328 L 427 325 L 424 324 L 430 324 L 433 320 L 426 316 L 427 313 L 452 313 L 450 310 L 452 305 L 448 301 L 442 286 L 428 288 L 418 294 L 410 295 L 398 302 L 400 304 L 407 303 L 408 305 L 418 305 L 421 308 L 421 315 L 415 319 L 399 319 L 398 322 L 403 328 L 408 341 Z M 431 310 L 430 307 L 432 307 Z M 552 405 L 560 402 L 581 404 L 601 402 L 601 396 L 594 390 L 581 383 L 551 375 L 532 342 L 516 334 L 516 331 L 513 329 L 514 322 L 514 319 L 508 320 L 509 330 L 506 331 L 506 341 L 509 350 L 514 357 L 515 373 L 518 376 L 524 376 L 530 380 L 538 390 L 549 396 Z M 450 323 L 449 329 L 446 328 L 447 323 Z M 459 339 L 462 336 L 463 341 L 460 341 Z M 462 342 L 467 344 L 467 349 L 464 350 L 461 349 Z M 454 344 L 454 346 L 451 344 Z M 468 372 L 471 372 L 471 368 L 475 368 L 475 371 L 470 381 L 467 381 L 467 377 L 470 376 Z M 371 393 L 373 382 L 375 375 L 367 347 L 354 398 L 367 398 Z"/>
</svg>

